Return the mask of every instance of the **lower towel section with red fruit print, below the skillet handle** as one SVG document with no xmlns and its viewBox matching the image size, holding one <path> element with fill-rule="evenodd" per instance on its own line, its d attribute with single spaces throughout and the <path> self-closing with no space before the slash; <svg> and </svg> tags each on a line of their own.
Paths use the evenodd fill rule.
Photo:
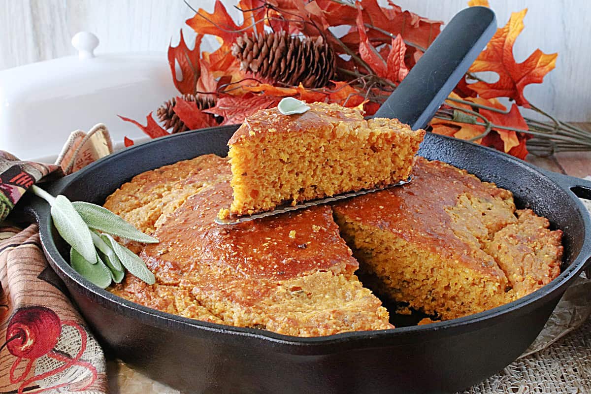
<svg viewBox="0 0 591 394">
<path fill-rule="evenodd" d="M 106 392 L 103 352 L 48 266 L 37 225 L 0 236 L 0 392 Z"/>
</svg>

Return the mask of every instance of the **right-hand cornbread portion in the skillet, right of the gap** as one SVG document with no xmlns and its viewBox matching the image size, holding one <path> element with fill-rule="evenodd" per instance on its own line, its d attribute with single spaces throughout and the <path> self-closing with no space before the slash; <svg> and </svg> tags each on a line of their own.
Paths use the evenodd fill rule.
<svg viewBox="0 0 591 394">
<path fill-rule="evenodd" d="M 559 275 L 561 231 L 515 210 L 510 191 L 423 158 L 413 177 L 333 206 L 363 283 L 378 294 L 448 320 L 514 301 Z"/>
</svg>

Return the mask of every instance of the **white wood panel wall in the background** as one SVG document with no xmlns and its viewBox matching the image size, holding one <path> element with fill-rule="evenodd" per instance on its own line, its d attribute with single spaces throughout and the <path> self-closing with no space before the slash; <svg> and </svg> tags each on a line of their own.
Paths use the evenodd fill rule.
<svg viewBox="0 0 591 394">
<path fill-rule="evenodd" d="M 213 0 L 189 0 L 194 8 L 213 10 Z M 232 8 L 236 0 L 224 0 Z M 449 21 L 467 0 L 394 0 L 403 9 Z M 527 7 L 525 30 L 515 44 L 523 61 L 540 48 L 558 52 L 556 69 L 525 96 L 563 120 L 591 121 L 591 2 L 587 0 L 490 0 L 499 25 L 511 11 Z M 230 10 L 238 16 L 235 9 Z M 178 41 L 193 12 L 181 0 L 0 0 L 0 70 L 74 54 L 70 38 L 77 31 L 98 35 L 97 53 L 165 51 Z M 209 41 L 213 43 L 213 41 Z M 204 47 L 207 44 L 204 45 Z M 0 87 L 1 88 L 1 87 Z"/>
</svg>

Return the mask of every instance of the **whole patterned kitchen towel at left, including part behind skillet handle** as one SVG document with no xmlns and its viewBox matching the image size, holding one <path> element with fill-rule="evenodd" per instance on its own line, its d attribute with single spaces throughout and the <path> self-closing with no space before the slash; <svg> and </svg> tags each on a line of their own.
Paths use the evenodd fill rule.
<svg viewBox="0 0 591 394">
<path fill-rule="evenodd" d="M 31 185 L 111 152 L 104 125 L 72 133 L 56 164 L 0 151 L 0 221 Z M 0 394 L 106 393 L 102 349 L 48 265 L 36 224 L 0 227 L 0 284 Z"/>
</svg>

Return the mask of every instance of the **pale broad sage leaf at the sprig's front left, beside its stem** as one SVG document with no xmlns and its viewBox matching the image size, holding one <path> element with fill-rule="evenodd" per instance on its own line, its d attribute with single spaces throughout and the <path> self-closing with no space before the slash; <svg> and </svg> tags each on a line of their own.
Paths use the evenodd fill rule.
<svg viewBox="0 0 591 394">
<path fill-rule="evenodd" d="M 96 250 L 90 230 L 65 196 L 57 196 L 51 203 L 51 218 L 61 237 L 89 263 L 95 264 Z"/>
</svg>

